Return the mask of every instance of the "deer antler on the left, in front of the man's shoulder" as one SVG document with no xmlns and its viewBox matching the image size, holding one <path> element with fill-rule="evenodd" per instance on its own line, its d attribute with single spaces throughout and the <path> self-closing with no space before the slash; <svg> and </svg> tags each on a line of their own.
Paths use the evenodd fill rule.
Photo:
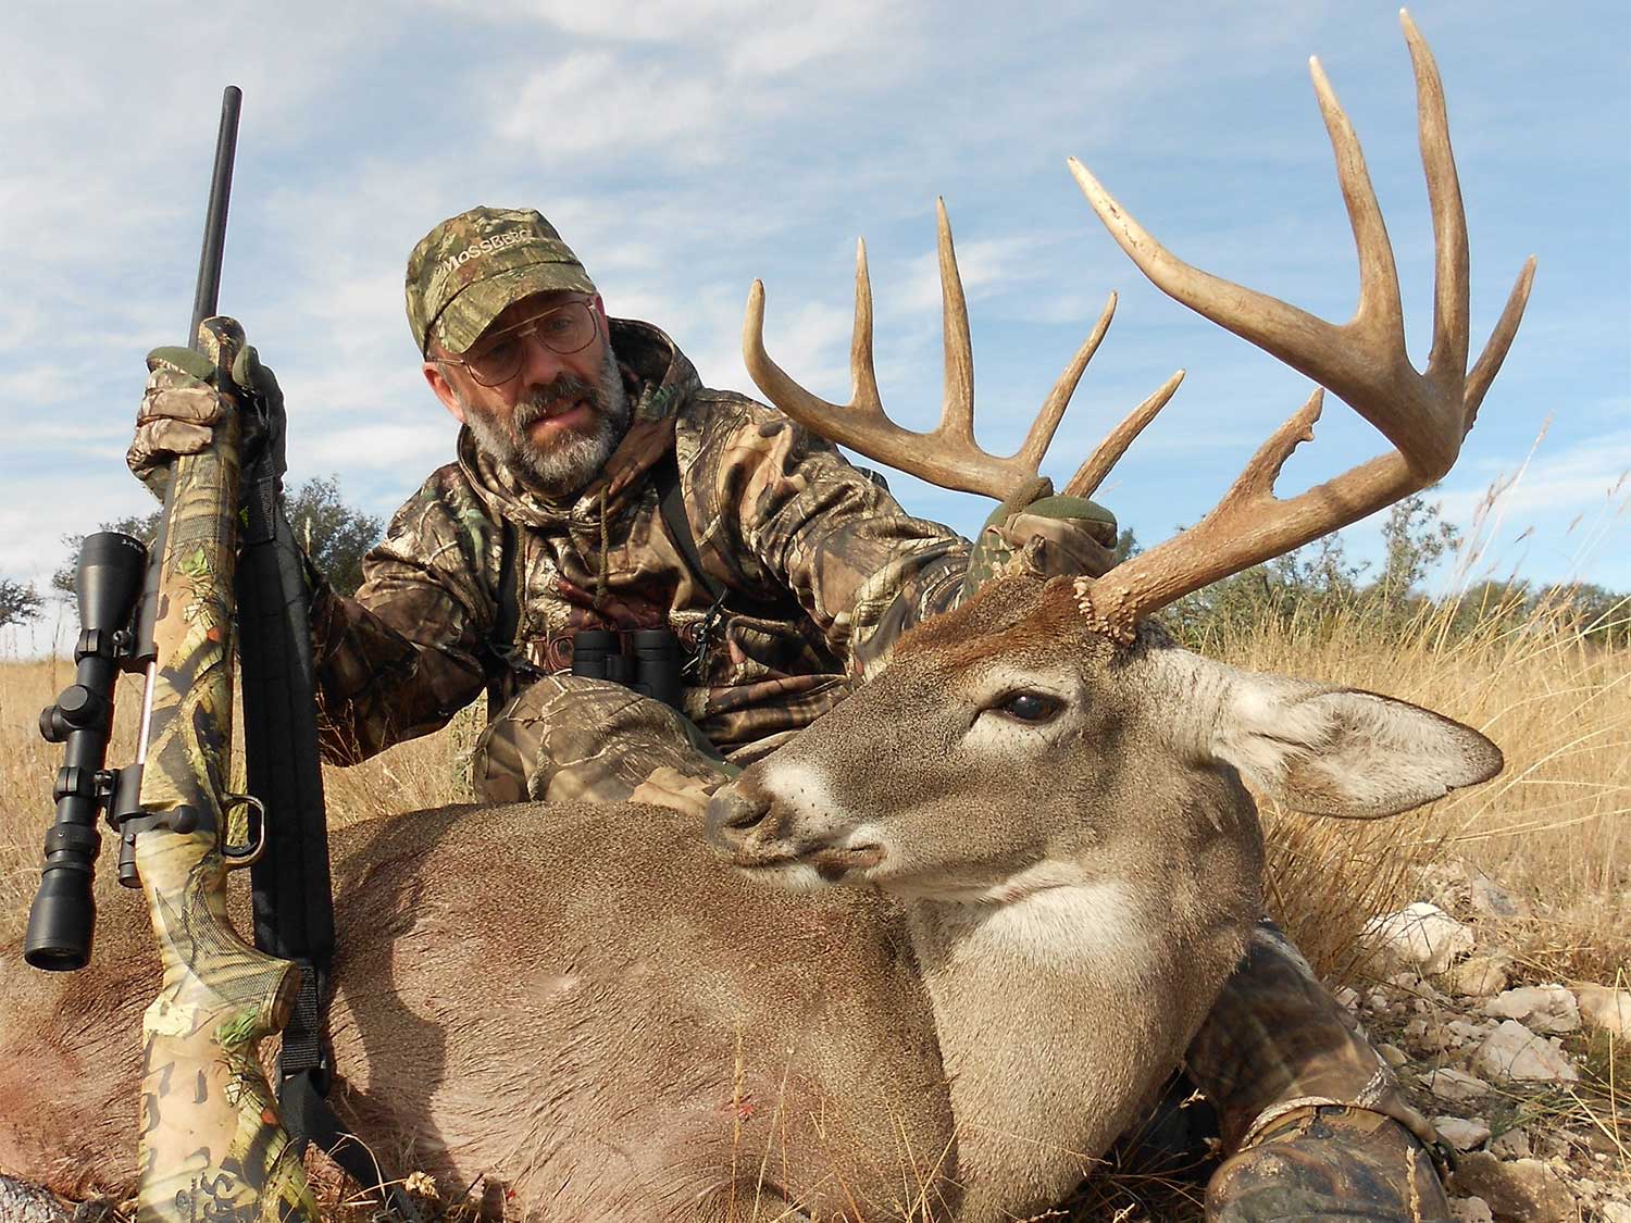
<svg viewBox="0 0 1631 1223">
<path fill-rule="evenodd" d="M 969 342 L 969 307 L 962 295 L 962 277 L 957 274 L 957 256 L 951 245 L 951 222 L 946 219 L 944 201 L 936 201 L 939 227 L 939 289 L 944 310 L 946 391 L 939 424 L 928 434 L 902 429 L 884 414 L 877 395 L 877 375 L 873 369 L 873 285 L 866 272 L 866 243 L 858 243 L 855 254 L 855 336 L 850 344 L 850 378 L 853 393 L 850 403 L 840 406 L 811 395 L 789 378 L 765 352 L 765 285 L 754 280 L 747 295 L 747 318 L 742 325 L 742 359 L 747 372 L 776 408 L 811 432 L 830 442 L 846 445 L 868 458 L 889 463 L 941 488 L 962 492 L 982 492 L 998 501 L 1036 486 L 1047 484 L 1037 471 L 1054 430 L 1065 414 L 1083 370 L 1098 352 L 1104 333 L 1116 315 L 1116 294 L 1109 295 L 1104 311 L 1091 334 L 1076 351 L 1075 359 L 1059 375 L 1037 413 L 1024 445 L 1010 458 L 987 453 L 974 440 L 974 352 Z M 1109 473 L 1120 453 L 1138 435 L 1166 401 L 1173 398 L 1182 372 L 1173 375 L 1165 386 L 1135 408 L 1125 421 L 1104 440 L 1094 455 L 1081 466 L 1067 486 L 1073 496 L 1091 496 Z"/>
</svg>

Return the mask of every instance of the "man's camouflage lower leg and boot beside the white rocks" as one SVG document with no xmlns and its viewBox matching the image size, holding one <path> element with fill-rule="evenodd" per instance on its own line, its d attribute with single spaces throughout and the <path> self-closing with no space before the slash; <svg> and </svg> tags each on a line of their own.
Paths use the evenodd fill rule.
<svg viewBox="0 0 1631 1223">
<path fill-rule="evenodd" d="M 1253 931 L 1187 1068 L 1228 1153 L 1207 1184 L 1207 1218 L 1452 1218 L 1432 1125 L 1272 923 Z"/>
</svg>

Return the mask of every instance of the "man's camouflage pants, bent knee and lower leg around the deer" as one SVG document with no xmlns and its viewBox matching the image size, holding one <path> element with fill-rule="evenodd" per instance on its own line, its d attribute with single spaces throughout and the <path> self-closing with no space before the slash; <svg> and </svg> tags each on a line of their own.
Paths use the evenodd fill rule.
<svg viewBox="0 0 1631 1223">
<path fill-rule="evenodd" d="M 768 755 L 776 735 L 721 757 L 661 701 L 576 675 L 550 675 L 515 696 L 483 732 L 473 779 L 493 802 L 638 799 L 701 814 L 708 794 Z M 1354 1018 L 1269 921 L 1189 1047 L 1186 1070 L 1218 1114 L 1233 1151 L 1313 1104 L 1354 1104 L 1404 1124 L 1432 1145 L 1432 1125 L 1404 1102 Z"/>
</svg>

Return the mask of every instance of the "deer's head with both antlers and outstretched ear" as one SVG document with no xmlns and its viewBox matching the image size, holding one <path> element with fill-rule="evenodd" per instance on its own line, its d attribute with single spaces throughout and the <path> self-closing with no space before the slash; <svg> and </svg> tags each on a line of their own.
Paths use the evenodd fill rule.
<svg viewBox="0 0 1631 1223">
<path fill-rule="evenodd" d="M 1151 845 L 1251 812 L 1240 778 L 1284 806 L 1323 815 L 1388 815 L 1474 784 L 1501 753 L 1470 727 L 1373 693 L 1253 675 L 1176 649 L 1150 615 L 1184 594 L 1336 532 L 1442 478 L 1517 331 L 1533 277 L 1523 267 L 1483 355 L 1468 370 L 1466 219 L 1450 152 L 1443 88 L 1408 15 L 1422 163 L 1437 246 L 1434 344 L 1417 372 L 1404 351 L 1398 274 L 1359 142 L 1313 60 L 1315 90 L 1360 256 L 1359 310 L 1341 326 L 1209 276 L 1155 241 L 1072 158 L 1088 202 L 1165 292 L 1306 373 L 1321 386 L 1246 465 L 1196 527 L 1073 581 L 1006 579 L 923 625 L 889 667 L 830 719 L 832 734 L 785 748 L 714 801 L 709 827 L 737 864 L 785 882 L 873 882 L 944 898 L 1001 900 L 1083 871 L 1125 879 L 1171 861 Z M 946 210 L 938 210 L 946 393 L 939 426 L 915 434 L 882 411 L 873 373 L 866 248 L 856 261 L 845 406 L 793 382 L 765 352 L 763 285 L 744 328 L 749 372 L 788 416 L 833 442 L 946 488 L 1006 499 L 1044 488 L 1039 465 L 1098 349 L 1116 298 L 1059 378 L 1011 458 L 974 442 L 967 307 Z M 1091 496 L 1171 400 L 1179 372 L 1138 404 L 1081 465 L 1067 494 Z M 1313 437 L 1324 388 L 1390 450 L 1288 501 L 1274 483 Z M 904 726 L 902 726 L 904 724 Z M 926 735 L 926 737 L 925 737 Z M 910 745 L 908 745 L 910 742 Z M 858 760 L 887 758 L 887 768 Z M 842 786 L 835 778 L 845 778 Z M 1060 804 L 1081 819 L 1037 820 Z M 1238 815 L 1240 812 L 1246 815 Z M 1210 812 L 1197 820 L 1197 812 Z M 966 827 L 977 815 L 977 833 Z M 1132 827 L 1140 825 L 1140 827 Z M 1116 837 L 1122 828 L 1127 835 Z M 1256 835 L 1253 822 L 1251 835 Z M 1063 841 L 1075 843 L 1070 851 Z M 1199 843 L 1199 841 L 1197 841 Z M 1093 846 L 1096 854 L 1078 850 Z M 1120 845 L 1117 853 L 1106 853 Z M 1085 866 L 1091 863 L 1093 866 Z M 1140 866 L 1142 864 L 1142 866 Z M 1191 861 L 1191 864 L 1194 864 Z M 1119 872 L 1119 874 L 1117 874 Z"/>
</svg>

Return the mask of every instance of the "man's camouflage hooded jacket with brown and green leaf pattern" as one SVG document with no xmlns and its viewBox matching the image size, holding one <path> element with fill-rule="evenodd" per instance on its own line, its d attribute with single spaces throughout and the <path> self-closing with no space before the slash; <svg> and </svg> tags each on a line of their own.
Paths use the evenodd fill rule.
<svg viewBox="0 0 1631 1223">
<path fill-rule="evenodd" d="M 724 590 L 723 615 L 687 677 L 685 713 L 731 753 L 807 726 L 905 628 L 957 598 L 966 540 L 907 515 L 781 413 L 701 386 L 657 328 L 612 320 L 612 346 L 633 419 L 576 499 L 540 499 L 466 429 L 458 460 L 431 475 L 365 559 L 356 598 L 318 595 L 328 758 L 427 734 L 483 690 L 491 716 L 537 673 L 569 669 L 582 628 L 667 623 L 695 651 L 709 585 Z M 670 450 L 711 582 L 659 510 L 656 473 Z M 507 605 L 501 579 L 514 582 Z"/>
</svg>

